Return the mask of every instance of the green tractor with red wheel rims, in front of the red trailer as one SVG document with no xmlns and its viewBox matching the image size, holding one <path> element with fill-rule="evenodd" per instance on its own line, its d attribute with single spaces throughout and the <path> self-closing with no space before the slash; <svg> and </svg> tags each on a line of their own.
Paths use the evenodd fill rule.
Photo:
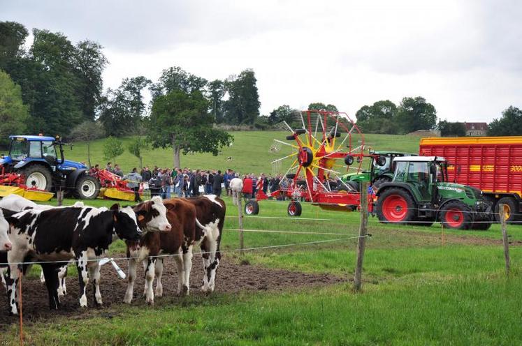
<svg viewBox="0 0 522 346">
<path fill-rule="evenodd" d="M 447 162 L 436 156 L 403 156 L 393 160 L 393 180 L 377 191 L 374 212 L 382 223 L 488 230 L 491 203 L 481 190 L 448 182 Z"/>
</svg>

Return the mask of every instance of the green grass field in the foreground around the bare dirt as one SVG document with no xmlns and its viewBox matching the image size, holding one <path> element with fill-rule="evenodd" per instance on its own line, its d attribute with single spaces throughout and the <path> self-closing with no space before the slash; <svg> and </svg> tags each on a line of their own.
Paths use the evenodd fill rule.
<svg viewBox="0 0 522 346">
<path fill-rule="evenodd" d="M 74 201 L 66 200 L 72 204 Z M 246 217 L 245 246 L 287 245 L 240 255 L 237 209 L 226 199 L 222 249 L 226 260 L 330 273 L 347 283 L 284 292 L 188 296 L 164 306 L 92 310 L 82 319 L 39 320 L 24 326 L 31 345 L 520 345 L 522 227 L 509 226 L 512 275 L 505 278 L 500 227 L 448 231 L 380 225 L 370 218 L 363 292 L 354 293 L 358 213 L 304 205 L 301 218 L 286 203 L 261 202 L 259 218 Z M 97 205 L 111 202 L 95 201 Z M 313 220 L 321 218 L 326 220 Z M 328 233 L 328 234 L 319 234 Z M 444 237 L 444 243 L 442 238 Z M 299 245 L 310 241 L 337 241 Z M 111 249 L 121 253 L 118 242 Z M 75 294 L 75 292 L 72 292 Z M 24 296 L 24 299 L 30 297 Z M 110 316 L 110 317 L 108 317 Z M 2 340 L 3 339 L 3 340 Z M 0 345 L 17 345 L 17 326 Z"/>
</svg>

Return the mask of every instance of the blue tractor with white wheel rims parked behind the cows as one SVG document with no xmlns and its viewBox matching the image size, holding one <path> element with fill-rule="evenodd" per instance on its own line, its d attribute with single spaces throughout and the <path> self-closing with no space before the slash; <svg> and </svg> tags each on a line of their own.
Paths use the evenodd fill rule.
<svg viewBox="0 0 522 346">
<path fill-rule="evenodd" d="M 22 183 L 29 188 L 61 189 L 83 200 L 98 197 L 98 179 L 90 176 L 82 163 L 64 159 L 64 143 L 59 137 L 13 135 L 9 138 L 9 155 L 0 159 L 3 172 L 21 174 Z"/>
</svg>

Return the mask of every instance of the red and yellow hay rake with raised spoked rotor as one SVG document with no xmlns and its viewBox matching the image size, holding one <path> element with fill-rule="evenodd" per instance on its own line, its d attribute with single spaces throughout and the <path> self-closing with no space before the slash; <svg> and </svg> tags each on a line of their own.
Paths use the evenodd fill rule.
<svg viewBox="0 0 522 346">
<path fill-rule="evenodd" d="M 260 200 L 268 197 L 290 200 L 289 216 L 300 216 L 300 202 L 311 202 L 322 209 L 353 211 L 360 204 L 358 184 L 343 182 L 339 170 L 361 170 L 364 136 L 346 113 L 307 110 L 294 114 L 293 121 L 276 126 L 287 130 L 284 142 L 274 140 L 270 151 L 291 153 L 272 161 L 273 174 L 280 174 L 284 162 L 289 163 L 280 180 L 279 190 L 263 193 L 247 200 L 245 213 L 259 213 Z M 354 163 L 356 163 L 354 165 Z"/>
</svg>

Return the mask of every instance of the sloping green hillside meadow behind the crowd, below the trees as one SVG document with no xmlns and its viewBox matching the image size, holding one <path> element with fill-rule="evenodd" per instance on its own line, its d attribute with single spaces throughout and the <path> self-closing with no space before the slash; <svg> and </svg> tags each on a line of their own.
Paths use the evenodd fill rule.
<svg viewBox="0 0 522 346">
<path fill-rule="evenodd" d="M 278 153 L 270 152 L 270 146 L 274 139 L 283 140 L 288 133 L 277 131 L 234 131 L 231 132 L 234 137 L 234 143 L 230 147 L 226 147 L 218 156 L 212 156 L 210 153 L 194 153 L 181 156 L 182 167 L 201 168 L 201 169 L 217 169 L 225 170 L 231 168 L 238 172 L 261 173 L 272 172 L 270 162 L 276 158 L 291 153 L 291 148 L 283 146 Z M 138 166 L 138 158 L 132 156 L 126 150 L 126 146 L 131 138 L 124 138 L 125 152 L 116 159 L 116 163 L 122 166 L 124 172 Z M 91 144 L 91 161 L 99 163 L 101 167 L 106 165 L 103 160 L 103 142 L 97 140 Z M 419 137 L 408 135 L 365 135 L 365 145 L 371 146 L 373 149 L 379 150 L 398 150 L 411 151 L 416 153 L 419 150 Z M 72 151 L 66 149 L 66 158 L 70 160 L 87 162 L 87 144 L 77 142 L 73 145 Z M 154 167 L 172 167 L 173 153 L 172 149 L 148 149 L 143 152 L 143 163 Z M 231 157 L 231 160 L 227 158 Z M 287 162 L 287 165 L 290 163 Z M 284 167 L 284 163 L 283 163 Z"/>
</svg>

